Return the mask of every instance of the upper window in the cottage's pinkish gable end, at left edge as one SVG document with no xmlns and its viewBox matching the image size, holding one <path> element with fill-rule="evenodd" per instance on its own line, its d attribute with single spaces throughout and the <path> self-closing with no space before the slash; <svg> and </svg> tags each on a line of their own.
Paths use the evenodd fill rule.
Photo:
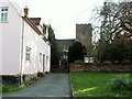
<svg viewBox="0 0 132 99">
<path fill-rule="evenodd" d="M 0 22 L 8 22 L 8 7 L 0 8 Z"/>
</svg>

